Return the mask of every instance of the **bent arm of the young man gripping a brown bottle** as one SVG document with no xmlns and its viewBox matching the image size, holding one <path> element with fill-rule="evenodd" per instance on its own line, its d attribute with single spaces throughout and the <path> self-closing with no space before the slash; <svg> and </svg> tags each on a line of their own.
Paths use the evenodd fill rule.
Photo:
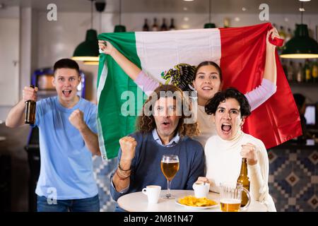
<svg viewBox="0 0 318 226">
<path fill-rule="evenodd" d="M 27 100 L 37 101 L 37 87 L 31 88 L 25 86 L 23 89 L 22 100 L 20 100 L 18 104 L 12 107 L 10 112 L 8 112 L 8 116 L 6 117 L 6 126 L 16 128 L 25 125 L 25 101 Z"/>
</svg>

